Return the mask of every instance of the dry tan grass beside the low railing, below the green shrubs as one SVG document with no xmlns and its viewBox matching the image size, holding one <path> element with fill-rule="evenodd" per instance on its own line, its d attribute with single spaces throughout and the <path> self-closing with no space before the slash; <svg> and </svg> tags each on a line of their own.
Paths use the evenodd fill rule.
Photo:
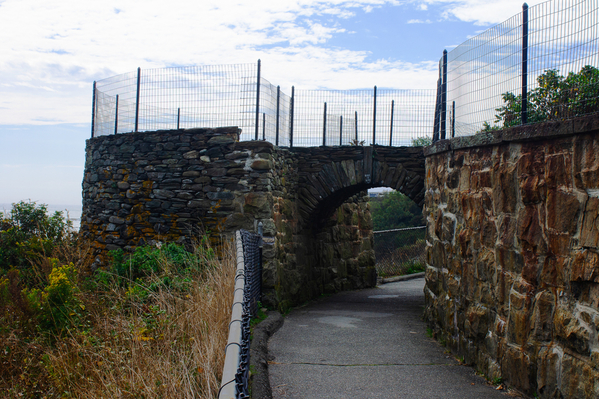
<svg viewBox="0 0 599 399">
<path fill-rule="evenodd" d="M 235 261 L 136 301 L 126 287 L 81 288 L 78 326 L 48 338 L 18 328 L 0 334 L 0 396 L 214 398 L 220 385 Z M 168 271 L 168 265 L 165 266 Z M 5 313 L 5 317 L 7 314 Z"/>
</svg>

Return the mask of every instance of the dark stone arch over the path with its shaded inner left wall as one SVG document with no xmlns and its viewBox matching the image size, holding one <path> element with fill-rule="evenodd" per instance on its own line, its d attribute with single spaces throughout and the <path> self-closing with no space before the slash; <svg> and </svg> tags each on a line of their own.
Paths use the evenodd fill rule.
<svg viewBox="0 0 599 399">
<path fill-rule="evenodd" d="M 291 305 L 323 293 L 376 285 L 367 190 L 391 187 L 422 206 L 422 148 L 345 146 L 290 153 L 296 168 L 296 214 L 293 240 L 279 247 L 283 261 L 277 290 L 286 293 L 279 297 L 289 298 Z M 281 232 L 290 229 L 283 220 L 278 225 Z"/>
</svg>

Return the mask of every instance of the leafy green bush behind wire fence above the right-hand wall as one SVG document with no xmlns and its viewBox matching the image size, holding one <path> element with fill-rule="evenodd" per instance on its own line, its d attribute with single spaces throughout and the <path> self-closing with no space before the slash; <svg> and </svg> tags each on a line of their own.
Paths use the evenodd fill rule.
<svg viewBox="0 0 599 399">
<path fill-rule="evenodd" d="M 527 96 L 528 123 L 572 118 L 599 111 L 599 69 L 586 65 L 567 77 L 556 69 L 537 77 L 538 87 Z M 504 105 L 495 109 L 495 126 L 484 123 L 483 131 L 522 124 L 522 95 L 502 94 Z"/>
</svg>

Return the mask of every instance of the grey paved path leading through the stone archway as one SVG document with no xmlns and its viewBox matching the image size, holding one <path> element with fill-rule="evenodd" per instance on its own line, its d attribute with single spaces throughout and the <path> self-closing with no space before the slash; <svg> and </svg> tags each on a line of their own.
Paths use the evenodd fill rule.
<svg viewBox="0 0 599 399">
<path fill-rule="evenodd" d="M 503 398 L 426 336 L 424 279 L 293 310 L 269 342 L 273 398 Z"/>
</svg>

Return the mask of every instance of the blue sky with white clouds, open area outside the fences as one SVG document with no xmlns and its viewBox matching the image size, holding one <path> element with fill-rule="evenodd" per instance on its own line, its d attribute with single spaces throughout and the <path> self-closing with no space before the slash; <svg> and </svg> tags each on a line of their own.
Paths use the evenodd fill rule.
<svg viewBox="0 0 599 399">
<path fill-rule="evenodd" d="M 521 0 L 0 0 L 0 207 L 81 206 L 96 80 L 260 59 L 285 92 L 432 89 L 444 49 L 521 9 Z"/>
</svg>

